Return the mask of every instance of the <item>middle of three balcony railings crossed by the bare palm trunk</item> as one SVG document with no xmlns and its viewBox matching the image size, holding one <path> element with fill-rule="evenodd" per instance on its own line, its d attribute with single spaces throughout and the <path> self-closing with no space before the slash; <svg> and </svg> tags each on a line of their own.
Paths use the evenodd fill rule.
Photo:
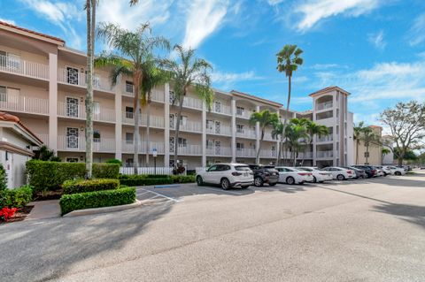
<svg viewBox="0 0 425 282">
<path fill-rule="evenodd" d="M 71 104 L 58 102 L 58 117 L 86 119 L 86 106 L 83 104 Z M 94 121 L 115 122 L 115 110 L 100 108 L 93 113 Z"/>
</svg>

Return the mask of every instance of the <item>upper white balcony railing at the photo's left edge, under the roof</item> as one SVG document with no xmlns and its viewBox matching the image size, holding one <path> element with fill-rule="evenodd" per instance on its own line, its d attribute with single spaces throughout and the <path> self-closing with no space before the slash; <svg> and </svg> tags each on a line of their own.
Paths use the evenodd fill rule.
<svg viewBox="0 0 425 282">
<path fill-rule="evenodd" d="M 19 57 L 0 55 L 0 71 L 49 80 L 49 65 L 30 62 Z"/>
</svg>

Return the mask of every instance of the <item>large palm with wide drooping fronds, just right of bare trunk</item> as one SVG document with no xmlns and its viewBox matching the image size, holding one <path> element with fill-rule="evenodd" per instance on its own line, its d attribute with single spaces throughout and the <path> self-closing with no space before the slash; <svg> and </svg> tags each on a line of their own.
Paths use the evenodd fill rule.
<svg viewBox="0 0 425 282">
<path fill-rule="evenodd" d="M 155 48 L 169 49 L 169 42 L 164 37 L 152 36 L 149 23 L 141 25 L 135 32 L 130 32 L 115 24 L 101 24 L 97 34 L 104 38 L 104 41 L 118 54 L 104 52 L 100 57 L 97 57 L 96 65 L 112 67 L 111 79 L 113 85 L 117 83 L 121 74 L 133 78 L 135 94 L 135 155 L 133 162 L 135 174 L 137 174 L 140 144 L 139 115 L 141 100 L 146 94 L 143 91 L 143 78 L 151 71 L 151 66 L 158 62 L 153 54 Z"/>
</svg>

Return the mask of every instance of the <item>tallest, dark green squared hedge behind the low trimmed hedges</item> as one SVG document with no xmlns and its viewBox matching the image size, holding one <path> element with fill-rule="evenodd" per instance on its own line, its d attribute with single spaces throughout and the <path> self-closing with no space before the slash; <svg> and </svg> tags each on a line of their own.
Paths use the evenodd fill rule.
<svg viewBox="0 0 425 282">
<path fill-rule="evenodd" d="M 34 192 L 57 190 L 66 180 L 84 178 L 86 164 L 30 160 L 27 161 L 27 175 Z"/>
</svg>

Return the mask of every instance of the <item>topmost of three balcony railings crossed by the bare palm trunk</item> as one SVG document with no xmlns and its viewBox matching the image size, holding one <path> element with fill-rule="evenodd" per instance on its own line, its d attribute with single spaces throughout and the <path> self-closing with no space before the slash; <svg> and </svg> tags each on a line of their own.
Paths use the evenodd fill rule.
<svg viewBox="0 0 425 282">
<path fill-rule="evenodd" d="M 66 69 L 59 68 L 58 82 L 85 88 L 87 87 L 87 74 L 80 70 L 78 70 L 78 73 L 73 74 Z M 112 91 L 111 81 L 95 75 L 93 78 L 93 88 L 97 90 Z"/>
</svg>

